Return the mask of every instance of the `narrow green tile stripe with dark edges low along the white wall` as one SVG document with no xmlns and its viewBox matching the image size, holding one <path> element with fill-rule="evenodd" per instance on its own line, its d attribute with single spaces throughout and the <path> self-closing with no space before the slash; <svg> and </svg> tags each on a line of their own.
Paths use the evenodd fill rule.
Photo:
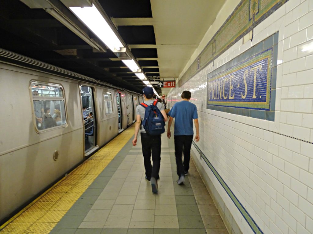
<svg viewBox="0 0 313 234">
<path fill-rule="evenodd" d="M 233 203 L 236 205 L 236 207 L 238 208 L 238 210 L 240 211 L 240 213 L 242 214 L 242 216 L 244 217 L 244 219 L 247 221 L 247 223 L 249 224 L 249 226 L 251 227 L 252 231 L 255 234 L 264 234 L 262 232 L 262 230 L 259 228 L 259 226 L 255 223 L 255 221 L 253 220 L 253 218 L 250 216 L 250 214 L 247 212 L 247 210 L 243 207 L 243 205 L 239 202 L 238 198 L 233 194 L 233 192 L 230 190 L 230 188 L 228 187 L 228 185 L 225 183 L 225 181 L 223 180 L 223 178 L 218 174 L 218 172 L 215 170 L 215 168 L 213 167 L 213 165 L 210 163 L 210 161 L 208 160 L 208 158 L 203 154 L 203 152 L 201 151 L 201 149 L 198 147 L 198 145 L 192 141 L 192 144 L 194 145 L 194 147 L 197 149 L 197 151 L 200 153 L 200 157 L 204 159 L 204 161 L 207 163 L 208 167 L 211 169 L 211 171 L 213 172 L 213 174 L 215 175 L 215 177 L 218 179 L 218 182 L 222 185 L 222 187 L 225 189 L 226 193 L 228 194 L 228 196 L 230 197 L 230 199 L 233 201 Z"/>
</svg>

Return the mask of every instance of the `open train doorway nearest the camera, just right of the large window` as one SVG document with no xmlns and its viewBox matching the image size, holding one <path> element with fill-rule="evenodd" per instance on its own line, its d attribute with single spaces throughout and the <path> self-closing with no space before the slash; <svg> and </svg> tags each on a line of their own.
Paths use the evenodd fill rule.
<svg viewBox="0 0 313 234">
<path fill-rule="evenodd" d="M 95 102 L 93 89 L 90 86 L 80 86 L 82 115 L 84 119 L 85 153 L 96 146 Z"/>
</svg>

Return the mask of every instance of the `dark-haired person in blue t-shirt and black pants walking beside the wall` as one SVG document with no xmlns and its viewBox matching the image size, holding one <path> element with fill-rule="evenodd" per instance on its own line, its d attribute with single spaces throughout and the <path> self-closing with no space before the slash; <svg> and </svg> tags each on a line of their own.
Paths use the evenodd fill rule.
<svg viewBox="0 0 313 234">
<path fill-rule="evenodd" d="M 185 182 L 185 175 L 188 174 L 189 161 L 190 161 L 190 149 L 193 138 L 193 124 L 194 119 L 196 127 L 195 141 L 198 142 L 199 137 L 199 122 L 197 107 L 193 103 L 189 102 L 191 93 L 189 91 L 182 92 L 182 101 L 174 104 L 168 115 L 170 119 L 167 125 L 167 137 L 171 137 L 171 124 L 173 118 L 174 124 L 174 144 L 175 144 L 175 157 L 177 165 L 178 184 Z M 182 162 L 182 153 L 184 153 L 184 162 Z"/>
</svg>

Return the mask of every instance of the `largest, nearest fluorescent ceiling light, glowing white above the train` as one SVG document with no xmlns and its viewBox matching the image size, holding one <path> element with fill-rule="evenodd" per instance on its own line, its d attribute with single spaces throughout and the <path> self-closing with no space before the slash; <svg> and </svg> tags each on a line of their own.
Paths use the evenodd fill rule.
<svg viewBox="0 0 313 234">
<path fill-rule="evenodd" d="M 118 52 L 124 47 L 94 4 L 92 4 L 92 7 L 69 7 L 69 9 L 95 33 L 111 51 Z"/>
</svg>

